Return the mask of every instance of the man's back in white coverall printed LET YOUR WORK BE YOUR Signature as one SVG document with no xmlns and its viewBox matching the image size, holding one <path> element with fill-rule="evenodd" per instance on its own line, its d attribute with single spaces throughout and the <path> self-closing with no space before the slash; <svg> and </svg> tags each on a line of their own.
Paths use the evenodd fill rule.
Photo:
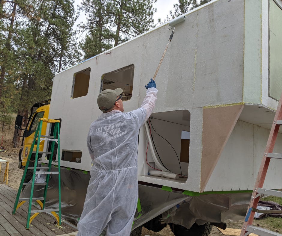
<svg viewBox="0 0 282 236">
<path fill-rule="evenodd" d="M 96 170 L 119 170 L 137 166 L 137 136 L 145 121 L 142 108 L 102 114 L 90 126 L 87 145 Z"/>
</svg>

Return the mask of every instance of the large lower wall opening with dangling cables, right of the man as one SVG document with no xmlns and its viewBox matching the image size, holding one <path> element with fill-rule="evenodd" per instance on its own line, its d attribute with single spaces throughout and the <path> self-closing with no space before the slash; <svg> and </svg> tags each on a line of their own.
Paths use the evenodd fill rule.
<svg viewBox="0 0 282 236">
<path fill-rule="evenodd" d="M 138 147 L 140 149 L 142 146 L 146 153 L 148 163 L 144 162 L 144 170 L 148 170 L 150 175 L 153 169 L 179 174 L 179 179 L 174 181 L 185 182 L 189 164 L 190 112 L 179 110 L 153 113 L 147 127 L 144 146 L 141 140 Z M 148 145 L 149 137 L 152 145 Z M 144 173 L 146 175 L 146 171 Z"/>
</svg>

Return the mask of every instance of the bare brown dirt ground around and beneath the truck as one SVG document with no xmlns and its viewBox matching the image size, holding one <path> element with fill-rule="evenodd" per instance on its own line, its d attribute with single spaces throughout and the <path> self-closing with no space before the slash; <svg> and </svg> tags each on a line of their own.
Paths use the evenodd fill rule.
<svg viewBox="0 0 282 236">
<path fill-rule="evenodd" d="M 0 157 L 3 160 L 9 161 L 9 174 L 8 174 L 8 186 L 12 187 L 15 190 L 18 190 L 19 184 L 22 178 L 23 170 L 18 168 L 19 163 L 19 149 L 13 148 L 13 125 L 11 125 L 10 130 L 5 129 L 4 131 L 0 131 L 0 138 L 2 140 L 3 135 L 3 143 L 2 146 L 5 148 L 4 152 L 0 152 Z M 4 172 L 5 172 L 6 164 L 1 165 L 1 173 L 0 173 L 0 183 L 3 183 Z M 243 221 L 235 222 L 235 223 L 227 223 L 227 228 L 241 229 L 243 225 Z M 167 226 L 160 232 L 149 231 L 143 227 L 142 236 L 150 235 L 150 236 L 173 236 L 173 233 L 170 230 L 170 227 Z M 223 235 L 217 227 L 213 226 L 210 235 Z"/>
</svg>

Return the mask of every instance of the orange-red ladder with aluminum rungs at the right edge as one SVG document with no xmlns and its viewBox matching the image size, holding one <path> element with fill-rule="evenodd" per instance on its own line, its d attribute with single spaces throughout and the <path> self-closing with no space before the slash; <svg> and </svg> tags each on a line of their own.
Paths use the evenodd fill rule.
<svg viewBox="0 0 282 236">
<path fill-rule="evenodd" d="M 280 159 L 282 161 L 282 154 L 278 154 L 278 153 L 272 153 L 273 152 L 273 148 L 276 142 L 276 138 L 277 138 L 277 134 L 279 131 L 279 127 L 280 125 L 282 125 L 282 94 L 280 97 L 280 101 L 278 103 L 277 106 L 277 111 L 274 117 L 274 121 L 272 123 L 271 126 L 271 130 L 270 130 L 270 134 L 268 137 L 268 141 L 266 144 L 266 148 L 265 148 L 265 152 L 262 158 L 262 162 L 259 168 L 259 173 L 256 177 L 256 182 L 255 182 L 255 186 L 253 189 L 253 193 L 250 199 L 250 204 L 247 210 L 247 214 L 244 220 L 244 224 L 241 230 L 241 236 L 245 236 L 245 235 L 249 235 L 250 233 L 254 233 L 257 235 L 261 235 L 261 236 L 270 236 L 270 235 L 280 235 L 276 232 L 272 232 L 270 230 L 267 229 L 263 229 L 257 226 L 253 226 L 253 217 L 255 212 L 258 213 L 282 213 L 282 211 L 274 211 L 274 210 L 270 210 L 270 211 L 264 211 L 264 210 L 258 210 L 257 205 L 259 202 L 259 197 L 262 194 L 265 195 L 271 195 L 271 196 L 277 196 L 277 197 L 282 197 L 282 192 L 280 191 L 276 191 L 276 190 L 272 190 L 272 189 L 265 189 L 263 188 L 263 183 L 265 180 L 265 176 L 267 173 L 267 169 L 269 166 L 269 162 L 272 158 L 275 159 Z M 281 222 L 282 223 L 282 222 Z"/>
</svg>

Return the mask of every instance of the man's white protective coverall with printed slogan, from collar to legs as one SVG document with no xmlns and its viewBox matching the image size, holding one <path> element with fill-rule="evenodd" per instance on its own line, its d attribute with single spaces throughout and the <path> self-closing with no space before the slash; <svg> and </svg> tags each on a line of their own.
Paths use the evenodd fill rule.
<svg viewBox="0 0 282 236">
<path fill-rule="evenodd" d="M 128 236 L 137 208 L 137 145 L 141 126 L 152 114 L 158 90 L 148 88 L 140 108 L 102 114 L 89 129 L 90 171 L 79 236 Z"/>
</svg>

